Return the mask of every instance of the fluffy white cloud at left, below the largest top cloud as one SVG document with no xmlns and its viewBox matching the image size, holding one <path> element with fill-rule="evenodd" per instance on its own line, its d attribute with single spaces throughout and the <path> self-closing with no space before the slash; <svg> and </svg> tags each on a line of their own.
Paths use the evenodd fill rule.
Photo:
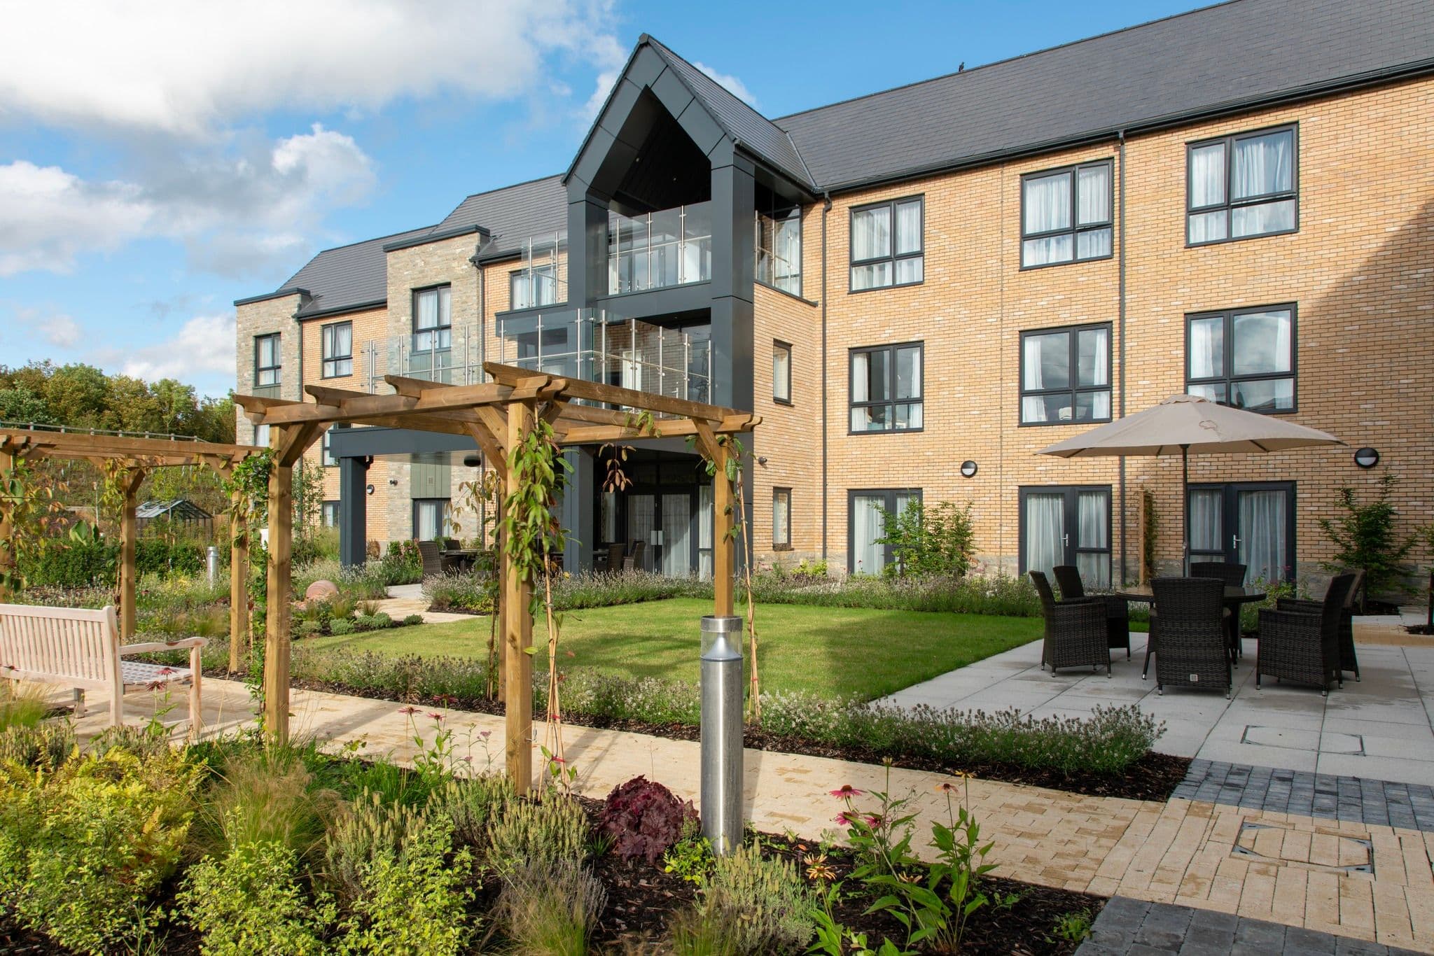
<svg viewBox="0 0 1434 956">
<path fill-rule="evenodd" d="M 377 185 L 353 138 L 318 123 L 272 145 L 171 153 L 146 179 L 87 182 L 23 159 L 0 165 L 0 275 L 67 272 L 80 252 L 151 236 L 182 241 L 196 268 L 264 274 L 303 255 L 304 224 Z"/>
</svg>

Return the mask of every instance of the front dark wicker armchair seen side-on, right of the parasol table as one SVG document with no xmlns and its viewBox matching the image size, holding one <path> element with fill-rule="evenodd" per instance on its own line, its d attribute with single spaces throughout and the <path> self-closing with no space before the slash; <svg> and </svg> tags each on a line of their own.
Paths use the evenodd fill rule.
<svg viewBox="0 0 1434 956">
<path fill-rule="evenodd" d="M 1315 684 L 1322 695 L 1331 682 L 1344 687 L 1341 623 L 1354 586 L 1352 573 L 1335 575 L 1324 601 L 1281 601 L 1273 611 L 1259 612 L 1255 687 L 1262 677 Z"/>
</svg>

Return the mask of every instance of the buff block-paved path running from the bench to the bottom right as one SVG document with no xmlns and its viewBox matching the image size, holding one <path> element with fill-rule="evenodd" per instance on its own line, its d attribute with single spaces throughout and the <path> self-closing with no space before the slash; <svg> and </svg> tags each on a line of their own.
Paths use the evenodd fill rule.
<svg viewBox="0 0 1434 956">
<path fill-rule="evenodd" d="M 65 692 L 56 695 L 56 701 L 66 698 Z M 143 695 L 126 704 L 132 722 L 142 720 L 151 705 Z M 247 688 L 229 681 L 205 681 L 204 711 L 206 734 L 232 732 L 252 720 Z M 79 725 L 89 735 L 103 722 L 105 715 L 92 711 Z M 420 752 L 414 734 L 426 747 L 443 725 L 455 732 L 465 765 L 479 771 L 502 767 L 503 722 L 485 714 L 406 715 L 387 701 L 294 691 L 291 725 L 295 735 L 336 747 L 361 741 L 363 752 L 400 763 Z M 543 731 L 541 722 L 535 724 L 535 740 L 541 741 Z M 576 790 L 585 795 L 601 798 L 617 784 L 644 774 L 684 798 L 697 798 L 697 742 L 571 725 L 565 742 L 568 761 L 578 770 Z M 541 764 L 541 758 L 535 763 Z M 945 820 L 946 794 L 939 787 L 952 780 L 945 774 L 746 751 L 747 817 L 760 830 L 810 840 L 836 830 L 833 817 L 842 806 L 829 791 L 845 784 L 868 793 L 889 787 L 896 795 L 911 795 L 922 816 L 921 833 L 928 833 L 926 821 Z M 982 836 L 995 844 L 989 859 L 1001 876 L 1434 952 L 1434 831 L 1263 804 L 1184 797 L 1156 803 L 987 780 L 968 783 L 969 807 L 981 821 Z"/>
</svg>

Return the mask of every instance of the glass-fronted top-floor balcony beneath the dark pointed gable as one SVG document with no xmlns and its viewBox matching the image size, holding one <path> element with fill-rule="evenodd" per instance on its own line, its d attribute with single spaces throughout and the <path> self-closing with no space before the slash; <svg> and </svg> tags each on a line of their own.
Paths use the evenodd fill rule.
<svg viewBox="0 0 1434 956">
<path fill-rule="evenodd" d="M 707 282 L 711 274 L 711 202 L 608 215 L 609 295 Z"/>
</svg>

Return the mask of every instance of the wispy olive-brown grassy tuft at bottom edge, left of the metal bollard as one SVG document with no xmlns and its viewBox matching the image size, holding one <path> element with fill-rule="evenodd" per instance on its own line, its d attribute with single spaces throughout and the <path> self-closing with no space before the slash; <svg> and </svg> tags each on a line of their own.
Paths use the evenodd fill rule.
<svg viewBox="0 0 1434 956">
<path fill-rule="evenodd" d="M 576 861 L 535 861 L 506 877 L 498 912 L 515 956 L 587 956 L 605 904 L 602 884 Z"/>
</svg>

